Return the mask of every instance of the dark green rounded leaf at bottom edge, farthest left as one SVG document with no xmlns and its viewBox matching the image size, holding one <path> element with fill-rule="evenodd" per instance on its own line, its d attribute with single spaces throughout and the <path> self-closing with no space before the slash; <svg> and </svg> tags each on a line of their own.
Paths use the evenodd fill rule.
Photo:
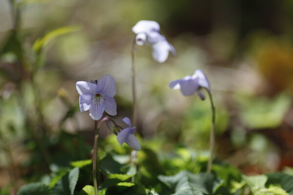
<svg viewBox="0 0 293 195">
<path fill-rule="evenodd" d="M 17 195 L 51 195 L 51 191 L 42 183 L 29 183 L 22 186 Z"/>
</svg>

